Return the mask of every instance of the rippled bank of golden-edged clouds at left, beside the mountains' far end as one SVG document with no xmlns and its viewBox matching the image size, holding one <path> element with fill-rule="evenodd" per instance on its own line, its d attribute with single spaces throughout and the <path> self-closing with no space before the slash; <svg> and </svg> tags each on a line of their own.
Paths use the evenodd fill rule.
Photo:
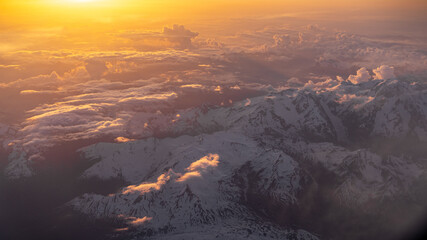
<svg viewBox="0 0 427 240">
<path fill-rule="evenodd" d="M 145 86 L 132 86 L 138 83 Z M 162 83 L 132 84 L 99 80 L 65 86 L 60 91 L 23 90 L 21 95 L 71 93 L 71 96 L 28 111 L 29 117 L 19 131 L 20 138 L 15 140 L 28 151 L 41 151 L 64 141 L 105 136 L 131 139 L 127 132 L 129 121 L 137 118 L 138 113 L 156 116 L 157 111 L 170 108 L 178 97 L 175 92 L 163 92 Z M 79 94 L 79 91 L 88 93 Z"/>
</svg>

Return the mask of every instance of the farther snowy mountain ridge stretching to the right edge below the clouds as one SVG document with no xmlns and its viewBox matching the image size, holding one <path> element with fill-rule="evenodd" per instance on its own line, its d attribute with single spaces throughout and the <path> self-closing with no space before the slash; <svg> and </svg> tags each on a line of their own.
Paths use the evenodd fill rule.
<svg viewBox="0 0 427 240">
<path fill-rule="evenodd" d="M 328 87 L 274 90 L 231 106 L 203 106 L 177 113 L 149 108 L 148 112 L 138 113 L 129 123 L 126 134 L 120 137 L 197 136 L 231 130 L 249 137 L 268 134 L 341 144 L 367 142 L 376 137 L 426 141 L 425 85 L 395 79 L 328 84 Z M 159 109 L 167 108 L 168 103 L 165 104 Z M 29 156 L 33 154 L 36 153 L 31 152 Z M 23 164 L 31 165 L 31 161 Z M 9 168 L 7 175 L 20 175 L 9 174 L 9 171 L 15 170 Z"/>
</svg>

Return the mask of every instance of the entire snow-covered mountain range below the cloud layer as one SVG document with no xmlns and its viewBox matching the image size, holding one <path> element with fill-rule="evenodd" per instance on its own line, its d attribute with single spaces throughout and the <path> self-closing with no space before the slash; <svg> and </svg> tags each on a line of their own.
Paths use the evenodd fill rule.
<svg viewBox="0 0 427 240">
<path fill-rule="evenodd" d="M 363 206 L 410 198 L 426 173 L 422 154 L 382 148 L 427 140 L 426 86 L 395 78 L 311 82 L 224 106 L 139 113 L 132 121 L 119 143 L 79 150 L 95 162 L 81 179 L 127 185 L 67 206 L 122 221 L 127 227 L 118 234 L 136 239 L 317 239 L 286 219 L 320 201 L 314 196 L 325 178 L 328 201 L 369 211 Z M 37 171 L 18 147 L 9 155 L 10 178 Z"/>
</svg>

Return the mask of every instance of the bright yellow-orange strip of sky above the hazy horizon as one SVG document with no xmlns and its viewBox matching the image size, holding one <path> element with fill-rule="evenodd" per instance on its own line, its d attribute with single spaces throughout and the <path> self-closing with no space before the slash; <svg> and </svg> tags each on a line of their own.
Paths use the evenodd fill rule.
<svg viewBox="0 0 427 240">
<path fill-rule="evenodd" d="M 86 2 L 89 1 L 89 2 Z M 313 10 L 422 11 L 424 0 L 1 0 L 1 26 L 58 25 L 97 19 L 187 19 Z"/>
</svg>

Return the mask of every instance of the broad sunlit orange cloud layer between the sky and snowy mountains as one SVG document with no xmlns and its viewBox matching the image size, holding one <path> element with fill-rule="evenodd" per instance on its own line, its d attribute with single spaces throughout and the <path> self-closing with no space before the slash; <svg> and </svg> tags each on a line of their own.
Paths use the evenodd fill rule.
<svg viewBox="0 0 427 240">
<path fill-rule="evenodd" d="M 276 22 L 265 28 L 212 32 L 209 38 L 182 25 L 114 33 L 129 43 L 119 50 L 11 52 L 0 68 L 25 76 L 0 83 L 0 120 L 19 112 L 10 120 L 22 127 L 14 142 L 31 155 L 82 139 L 120 142 L 175 134 L 184 125 L 174 117 L 178 111 L 231 105 L 283 87 L 331 90 L 345 84 L 335 76 L 358 84 L 372 79 L 368 69 L 375 79 L 387 79 L 395 77 L 388 66 L 401 74 L 427 63 L 411 45 L 271 21 Z M 144 39 L 161 43 L 138 48 Z M 354 74 L 355 66 L 365 67 Z M 345 94 L 337 101 L 356 100 Z"/>
</svg>

